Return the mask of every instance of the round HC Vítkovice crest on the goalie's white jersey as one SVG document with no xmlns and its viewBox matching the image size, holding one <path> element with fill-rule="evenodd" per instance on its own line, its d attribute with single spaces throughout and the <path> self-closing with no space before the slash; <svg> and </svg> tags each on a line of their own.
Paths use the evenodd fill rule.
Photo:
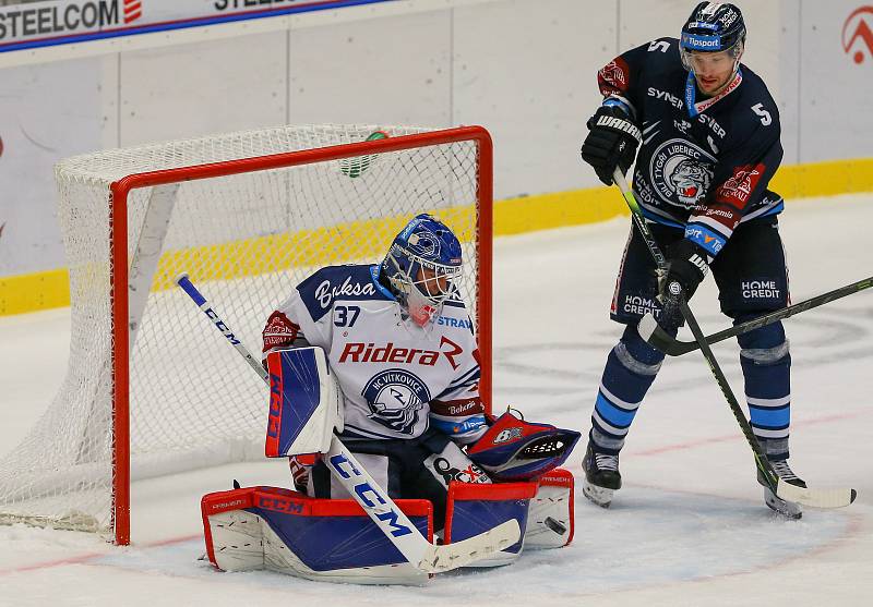
<svg viewBox="0 0 873 607">
<path fill-rule="evenodd" d="M 361 396 L 370 408 L 369 417 L 388 429 L 411 435 L 430 390 L 417 375 L 392 368 L 373 376 Z"/>
</svg>

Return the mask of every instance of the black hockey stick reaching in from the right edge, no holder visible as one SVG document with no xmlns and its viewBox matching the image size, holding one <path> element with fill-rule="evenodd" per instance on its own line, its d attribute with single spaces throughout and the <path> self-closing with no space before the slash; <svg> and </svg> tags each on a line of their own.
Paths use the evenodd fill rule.
<svg viewBox="0 0 873 607">
<path fill-rule="evenodd" d="M 758 327 L 764 327 L 772 323 L 776 323 L 777 320 L 781 320 L 782 318 L 789 318 L 796 314 L 800 314 L 801 312 L 806 312 L 813 307 L 818 307 L 820 305 L 824 305 L 847 295 L 858 293 L 859 291 L 870 289 L 871 287 L 873 287 L 873 277 L 859 280 L 858 282 L 852 282 L 846 287 L 834 289 L 827 293 L 816 295 L 815 298 L 810 298 L 809 300 L 789 305 L 788 307 L 784 307 L 775 312 L 770 312 L 764 316 L 758 316 L 752 320 L 734 325 L 733 327 L 718 331 L 717 333 L 706 336 L 706 343 L 710 345 L 713 343 L 718 343 L 719 341 L 728 338 L 742 335 L 753 329 L 757 329 Z M 660 327 L 660 325 L 658 325 L 658 321 L 655 320 L 655 317 L 650 312 L 647 312 L 646 315 L 643 316 L 643 319 L 639 320 L 637 330 L 643 339 L 668 356 L 681 356 L 682 354 L 687 354 L 689 352 L 699 349 L 699 345 L 696 341 L 682 341 L 670 336 Z"/>
</svg>

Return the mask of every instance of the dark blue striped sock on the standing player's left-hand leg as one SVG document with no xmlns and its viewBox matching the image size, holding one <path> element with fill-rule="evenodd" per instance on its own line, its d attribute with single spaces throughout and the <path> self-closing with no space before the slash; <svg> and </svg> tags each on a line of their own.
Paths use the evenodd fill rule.
<svg viewBox="0 0 873 607">
<path fill-rule="evenodd" d="M 607 359 L 591 414 L 589 437 L 597 451 L 619 453 L 661 362 L 663 353 L 646 343 L 636 327 L 624 329 Z"/>
</svg>

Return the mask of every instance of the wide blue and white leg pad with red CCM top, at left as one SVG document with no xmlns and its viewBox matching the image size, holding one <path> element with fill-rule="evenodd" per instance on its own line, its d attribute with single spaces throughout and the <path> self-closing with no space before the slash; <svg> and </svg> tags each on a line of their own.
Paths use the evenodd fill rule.
<svg viewBox="0 0 873 607">
<path fill-rule="evenodd" d="M 432 538 L 429 502 L 398 500 L 397 506 L 424 537 Z M 201 510 L 206 553 L 224 571 L 267 569 L 309 580 L 358 584 L 421 584 L 428 580 L 354 500 L 249 487 L 208 494 Z"/>
</svg>

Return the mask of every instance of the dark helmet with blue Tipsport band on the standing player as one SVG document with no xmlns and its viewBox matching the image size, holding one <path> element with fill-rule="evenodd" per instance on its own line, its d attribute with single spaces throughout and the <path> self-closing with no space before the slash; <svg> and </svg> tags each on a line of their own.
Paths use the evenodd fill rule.
<svg viewBox="0 0 873 607">
<path fill-rule="evenodd" d="M 736 58 L 744 43 L 745 21 L 739 8 L 728 2 L 701 2 L 682 26 L 679 46 L 683 51 L 730 50 Z"/>
</svg>

